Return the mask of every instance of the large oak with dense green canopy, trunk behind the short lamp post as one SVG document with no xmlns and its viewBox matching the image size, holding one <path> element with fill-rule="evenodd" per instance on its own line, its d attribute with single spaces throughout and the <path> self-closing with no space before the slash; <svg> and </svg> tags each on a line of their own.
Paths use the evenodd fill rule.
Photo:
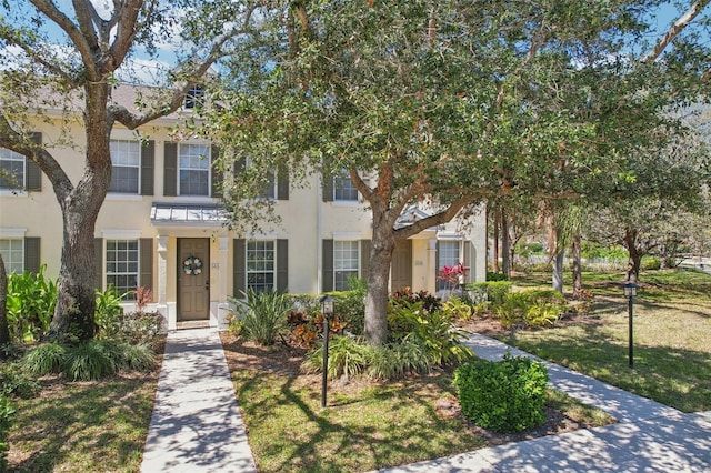
<svg viewBox="0 0 711 473">
<path fill-rule="evenodd" d="M 611 119 L 615 107 L 683 100 L 640 94 L 670 68 L 709 67 L 693 48 L 667 63 L 638 61 L 657 3 L 289 2 L 269 18 L 259 52 L 231 63 L 232 92 L 222 97 L 230 108 L 213 131 L 269 170 L 348 170 L 372 211 L 365 335 L 381 344 L 398 240 L 494 197 L 564 195 L 579 177 L 620 164 L 624 140 L 599 140 L 599 127 L 629 124 Z M 609 109 L 578 111 L 591 107 Z M 412 205 L 430 217 L 399 225 Z"/>
</svg>

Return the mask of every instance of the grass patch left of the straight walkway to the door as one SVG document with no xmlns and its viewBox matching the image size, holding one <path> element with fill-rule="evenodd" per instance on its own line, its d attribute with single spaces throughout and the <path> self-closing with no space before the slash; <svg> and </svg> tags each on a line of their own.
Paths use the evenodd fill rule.
<svg viewBox="0 0 711 473">
<path fill-rule="evenodd" d="M 29 400 L 13 399 L 9 470 L 139 472 L 158 371 L 96 382 L 44 380 Z"/>
</svg>

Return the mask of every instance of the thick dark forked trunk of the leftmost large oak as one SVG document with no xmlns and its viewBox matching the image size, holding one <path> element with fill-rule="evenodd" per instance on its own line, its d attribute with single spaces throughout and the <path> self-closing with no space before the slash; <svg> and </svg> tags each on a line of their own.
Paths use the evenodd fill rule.
<svg viewBox="0 0 711 473">
<path fill-rule="evenodd" d="M 63 197 L 58 193 L 64 233 L 57 308 L 48 336 L 64 343 L 84 342 L 94 335 L 93 231 L 111 184 L 109 88 L 103 83 L 89 83 L 86 94 L 87 165 L 70 192 Z"/>
</svg>

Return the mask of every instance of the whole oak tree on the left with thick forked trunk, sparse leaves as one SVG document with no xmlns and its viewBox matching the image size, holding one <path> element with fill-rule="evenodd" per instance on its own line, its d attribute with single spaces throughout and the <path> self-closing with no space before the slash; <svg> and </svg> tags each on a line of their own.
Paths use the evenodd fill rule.
<svg viewBox="0 0 711 473">
<path fill-rule="evenodd" d="M 0 3 L 0 147 L 34 161 L 62 212 L 59 298 L 50 333 L 61 340 L 94 334 L 93 228 L 111 181 L 109 139 L 118 123 L 134 130 L 176 111 L 219 58 L 257 28 L 260 2 L 203 0 L 2 1 Z M 139 111 L 111 99 L 137 51 L 160 59 L 173 44 L 163 89 L 143 95 Z M 32 140 L 30 119 L 64 109 L 62 121 L 84 129 L 84 167 L 72 180 L 52 151 Z M 70 141 L 72 137 L 62 137 Z"/>
</svg>

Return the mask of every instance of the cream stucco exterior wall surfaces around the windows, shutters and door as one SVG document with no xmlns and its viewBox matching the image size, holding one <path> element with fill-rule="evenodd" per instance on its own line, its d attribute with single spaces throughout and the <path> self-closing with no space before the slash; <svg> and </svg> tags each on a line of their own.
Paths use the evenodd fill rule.
<svg viewBox="0 0 711 473">
<path fill-rule="evenodd" d="M 94 238 L 103 239 L 151 239 L 152 265 L 150 285 L 153 288 L 153 309 L 164 314 L 169 329 L 176 328 L 178 320 L 178 243 L 182 238 L 209 239 L 210 254 L 210 324 L 222 324 L 228 312 L 228 298 L 233 295 L 234 239 L 288 240 L 288 290 L 292 293 L 319 293 L 323 286 L 322 240 L 370 240 L 372 238 L 371 217 L 362 202 L 324 202 L 318 178 L 308 189 L 291 189 L 289 200 L 276 202 L 277 213 L 282 224 L 263 234 L 239 235 L 219 222 L 196 224 L 171 222 L 152 224 L 151 207 L 161 203 L 216 204 L 218 199 L 194 197 L 167 197 L 163 189 L 166 163 L 164 143 L 172 141 L 168 135 L 166 121 L 142 130 L 154 141 L 153 194 L 127 195 L 110 193 L 101 209 Z M 73 148 L 53 147 L 59 138 L 59 123 L 38 122 L 37 131 L 42 133 L 54 158 L 61 163 L 72 182 L 77 182 L 83 171 L 83 129 L 77 123 L 70 125 L 70 133 L 77 137 Z M 117 128 L 113 139 L 134 139 L 134 133 Z M 47 263 L 46 274 L 57 278 L 61 254 L 62 220 L 59 204 L 49 180 L 42 175 L 42 190 L 29 194 L 12 195 L 0 191 L 0 238 L 2 231 L 18 229 L 27 236 L 40 238 L 40 256 Z M 435 291 L 437 240 L 447 234 L 462 242 L 473 242 L 474 264 L 470 279 L 483 281 L 485 278 L 485 227 L 483 212 L 475 215 L 467 230 L 458 230 L 450 223 L 441 231 L 429 230 L 412 238 L 412 289 Z M 106 243 L 104 243 L 106 244 Z M 106 251 L 101 251 L 102 258 Z M 461 254 L 461 253 L 460 253 Z M 465 263 L 468 264 L 468 263 Z M 106 264 L 101 264 L 102 281 L 106 285 Z M 361 278 L 365 274 L 362 272 Z M 148 281 L 144 281 L 148 283 Z M 130 304 L 128 304 L 130 305 Z"/>
</svg>

